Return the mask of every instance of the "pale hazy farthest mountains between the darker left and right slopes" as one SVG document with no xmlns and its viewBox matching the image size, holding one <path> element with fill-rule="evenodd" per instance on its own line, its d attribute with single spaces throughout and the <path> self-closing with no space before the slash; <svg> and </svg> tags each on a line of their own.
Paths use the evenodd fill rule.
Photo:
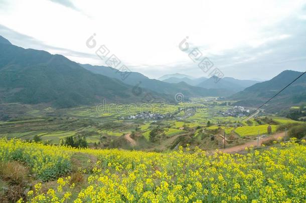
<svg viewBox="0 0 306 203">
<path fill-rule="evenodd" d="M 173 74 L 173 75 L 177 75 L 177 74 Z M 238 80 L 238 79 L 230 78 L 230 77 L 224 77 L 219 80 L 218 77 L 216 76 L 212 76 L 211 78 L 201 77 L 201 78 L 193 78 L 193 79 L 191 79 L 191 77 L 168 78 L 168 76 L 170 75 L 166 75 L 161 78 L 167 78 L 163 81 L 168 82 L 168 83 L 185 82 L 189 85 L 202 87 L 206 89 L 225 89 L 225 90 L 230 91 L 231 93 L 233 92 L 237 93 L 259 82 L 259 81 L 253 81 L 253 80 Z"/>
</svg>

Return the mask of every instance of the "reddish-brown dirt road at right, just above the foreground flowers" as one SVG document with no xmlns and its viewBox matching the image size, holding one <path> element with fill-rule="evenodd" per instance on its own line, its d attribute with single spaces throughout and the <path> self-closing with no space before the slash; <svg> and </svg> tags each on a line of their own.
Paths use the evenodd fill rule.
<svg viewBox="0 0 306 203">
<path fill-rule="evenodd" d="M 262 142 L 264 141 L 268 141 L 268 140 L 272 140 L 272 139 L 277 139 L 278 137 L 283 138 L 285 136 L 284 132 L 281 133 L 277 133 L 268 137 L 264 137 L 261 140 L 259 140 L 259 146 L 262 144 Z M 219 149 L 219 151 L 222 151 L 224 153 L 235 153 L 235 152 L 239 152 L 239 151 L 243 151 L 246 147 L 250 147 L 250 146 L 257 146 L 257 140 L 255 141 L 251 141 L 242 145 L 238 145 L 238 146 L 233 146 L 233 147 L 229 147 L 229 148 L 225 148 L 225 149 Z"/>
</svg>

